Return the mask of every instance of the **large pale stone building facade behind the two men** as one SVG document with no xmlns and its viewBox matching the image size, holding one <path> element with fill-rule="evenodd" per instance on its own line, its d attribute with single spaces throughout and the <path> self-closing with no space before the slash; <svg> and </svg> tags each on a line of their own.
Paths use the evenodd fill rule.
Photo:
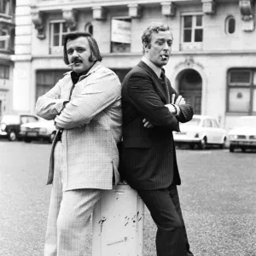
<svg viewBox="0 0 256 256">
<path fill-rule="evenodd" d="M 255 5 L 250 0 L 22 0 L 16 4 L 13 108 L 32 112 L 38 96 L 68 67 L 62 38 L 93 34 L 102 63 L 122 80 L 142 57 L 141 35 L 152 21 L 172 28 L 166 76 L 195 113 L 229 129 L 256 114 Z"/>
</svg>

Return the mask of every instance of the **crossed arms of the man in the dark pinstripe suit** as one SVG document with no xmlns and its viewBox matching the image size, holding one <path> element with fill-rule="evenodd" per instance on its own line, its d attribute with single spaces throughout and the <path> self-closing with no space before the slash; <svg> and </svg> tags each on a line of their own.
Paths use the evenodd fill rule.
<svg viewBox="0 0 256 256">
<path fill-rule="evenodd" d="M 178 106 L 179 113 L 172 104 L 165 105 L 156 92 L 152 79 L 144 73 L 134 73 L 128 81 L 126 90 L 128 102 L 143 116 L 146 128 L 162 126 L 171 131 L 179 131 L 179 122 L 188 122 L 193 117 L 193 108 L 178 96 L 172 87 L 172 104 Z M 173 96 L 174 95 L 174 96 Z"/>
</svg>

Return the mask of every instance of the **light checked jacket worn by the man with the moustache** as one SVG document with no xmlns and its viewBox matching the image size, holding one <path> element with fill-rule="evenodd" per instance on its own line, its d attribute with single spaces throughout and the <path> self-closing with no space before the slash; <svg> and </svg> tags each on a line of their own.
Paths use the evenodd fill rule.
<svg viewBox="0 0 256 256">
<path fill-rule="evenodd" d="M 79 78 L 67 102 L 73 86 L 70 73 L 40 96 L 36 104 L 39 116 L 55 119 L 64 129 L 63 190 L 112 189 L 113 183 L 119 183 L 121 84 L 116 74 L 98 61 L 89 73 Z M 63 102 L 67 102 L 65 108 Z M 55 143 L 56 137 L 49 157 L 47 183 L 52 183 Z"/>
</svg>

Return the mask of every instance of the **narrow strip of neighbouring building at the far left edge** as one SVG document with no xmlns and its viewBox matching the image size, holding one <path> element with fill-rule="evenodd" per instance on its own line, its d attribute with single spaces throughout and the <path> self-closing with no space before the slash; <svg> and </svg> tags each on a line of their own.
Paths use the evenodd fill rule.
<svg viewBox="0 0 256 256">
<path fill-rule="evenodd" d="M 12 105 L 15 50 L 15 0 L 0 1 L 0 116 Z"/>
</svg>

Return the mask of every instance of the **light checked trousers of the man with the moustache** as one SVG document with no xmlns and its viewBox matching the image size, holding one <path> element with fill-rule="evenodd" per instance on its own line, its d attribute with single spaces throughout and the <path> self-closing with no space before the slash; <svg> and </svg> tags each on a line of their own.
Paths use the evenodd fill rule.
<svg viewBox="0 0 256 256">
<path fill-rule="evenodd" d="M 55 172 L 49 202 L 44 256 L 87 256 L 86 233 L 90 215 L 102 189 L 62 191 L 61 143 L 55 145 Z"/>
</svg>

